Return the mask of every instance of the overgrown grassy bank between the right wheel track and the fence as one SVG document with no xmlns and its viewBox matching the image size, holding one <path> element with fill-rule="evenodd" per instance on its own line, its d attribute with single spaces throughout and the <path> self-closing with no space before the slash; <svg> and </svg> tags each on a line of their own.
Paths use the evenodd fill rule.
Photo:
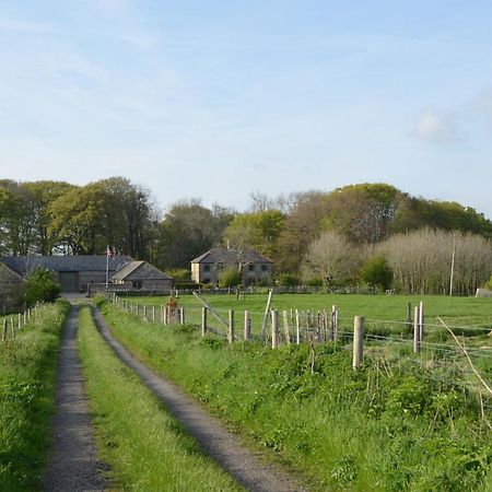
<svg viewBox="0 0 492 492">
<path fill-rule="evenodd" d="M 367 358 L 354 373 L 349 351 L 326 345 L 312 374 L 307 345 L 226 347 L 190 327 L 104 312 L 139 358 L 309 477 L 313 490 L 492 490 L 492 432 L 478 398 L 411 358 Z"/>
</svg>

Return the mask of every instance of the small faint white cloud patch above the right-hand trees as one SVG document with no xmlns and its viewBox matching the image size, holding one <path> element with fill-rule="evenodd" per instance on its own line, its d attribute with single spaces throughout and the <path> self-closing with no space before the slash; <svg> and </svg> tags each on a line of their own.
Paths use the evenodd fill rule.
<svg viewBox="0 0 492 492">
<path fill-rule="evenodd" d="M 440 144 L 457 143 L 464 137 L 454 115 L 434 108 L 419 116 L 412 133 L 419 140 Z"/>
</svg>

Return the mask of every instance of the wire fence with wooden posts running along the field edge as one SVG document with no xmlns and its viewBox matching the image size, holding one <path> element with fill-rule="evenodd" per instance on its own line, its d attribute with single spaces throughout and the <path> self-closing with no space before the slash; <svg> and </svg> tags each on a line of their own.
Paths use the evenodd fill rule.
<svg viewBox="0 0 492 492">
<path fill-rule="evenodd" d="M 215 309 L 203 305 L 187 306 L 147 306 L 132 303 L 128 298 L 112 296 L 112 301 L 122 311 L 138 316 L 143 321 L 162 325 L 190 325 L 201 330 L 202 336 L 213 336 L 235 341 L 254 341 L 278 348 L 289 344 L 308 344 L 313 351 L 323 345 L 332 344 L 339 350 L 354 349 L 358 344 L 356 327 L 353 318 L 340 316 L 333 306 L 332 311 L 289 309 L 242 312 Z M 237 316 L 239 315 L 239 316 Z M 436 384 L 455 387 L 480 398 L 483 409 L 492 409 L 492 394 L 481 384 L 473 373 L 472 366 L 465 356 L 464 349 L 448 339 L 447 329 L 443 325 L 401 320 L 365 319 L 361 341 L 362 353 L 373 363 L 386 360 L 391 370 L 398 371 L 403 365 L 419 368 L 419 376 Z M 466 353 L 480 367 L 489 367 L 492 356 L 492 343 L 483 337 L 490 330 L 475 327 L 449 327 L 458 335 L 469 336 Z M 415 333 L 421 338 L 415 341 Z M 465 340 L 465 338 L 462 338 Z M 489 343 L 488 343 L 489 342 Z M 418 350 L 417 350 L 418 349 Z M 355 354 L 354 354 L 355 360 Z M 376 361 L 376 362 L 374 362 Z M 354 368 L 358 368 L 354 365 Z M 489 387 L 491 382 L 485 382 Z"/>
</svg>

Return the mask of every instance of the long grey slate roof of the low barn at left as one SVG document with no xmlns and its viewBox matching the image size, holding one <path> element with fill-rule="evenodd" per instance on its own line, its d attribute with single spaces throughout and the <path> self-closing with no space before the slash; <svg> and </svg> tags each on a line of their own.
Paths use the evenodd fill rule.
<svg viewBox="0 0 492 492">
<path fill-rule="evenodd" d="M 115 272 L 130 261 L 133 261 L 130 256 L 115 255 L 109 258 L 108 270 Z M 106 255 L 7 256 L 2 262 L 21 276 L 36 268 L 54 271 L 106 271 Z"/>
</svg>

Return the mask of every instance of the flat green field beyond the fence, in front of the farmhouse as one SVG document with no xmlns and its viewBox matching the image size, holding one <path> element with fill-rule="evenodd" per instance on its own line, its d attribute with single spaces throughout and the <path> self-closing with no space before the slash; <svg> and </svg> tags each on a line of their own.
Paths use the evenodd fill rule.
<svg viewBox="0 0 492 492">
<path fill-rule="evenodd" d="M 235 309 L 237 323 L 241 321 L 241 312 L 248 309 L 251 313 L 251 330 L 259 333 L 261 318 L 267 304 L 267 295 L 245 294 L 236 300 L 234 294 L 203 295 L 207 302 L 224 318 L 227 319 L 227 311 Z M 129 302 L 160 306 L 165 304 L 167 297 L 147 296 L 128 297 Z M 200 324 L 201 304 L 192 295 L 180 295 L 177 300 L 179 306 L 186 308 L 186 317 L 189 323 Z M 405 329 L 403 321 L 407 316 L 407 303 L 413 307 L 420 301 L 424 302 L 425 323 L 429 328 L 442 330 L 437 316 L 447 324 L 456 327 L 492 329 L 492 300 L 476 297 L 448 297 L 443 295 L 356 295 L 356 294 L 278 294 L 273 295 L 272 308 L 279 311 L 311 311 L 312 313 L 331 311 L 331 306 L 339 308 L 340 324 L 350 328 L 354 316 L 366 318 L 366 328 L 374 330 Z M 389 323 L 400 321 L 400 323 Z M 210 317 L 210 324 L 215 326 L 215 320 Z M 458 330 L 460 331 L 460 330 Z"/>
</svg>

